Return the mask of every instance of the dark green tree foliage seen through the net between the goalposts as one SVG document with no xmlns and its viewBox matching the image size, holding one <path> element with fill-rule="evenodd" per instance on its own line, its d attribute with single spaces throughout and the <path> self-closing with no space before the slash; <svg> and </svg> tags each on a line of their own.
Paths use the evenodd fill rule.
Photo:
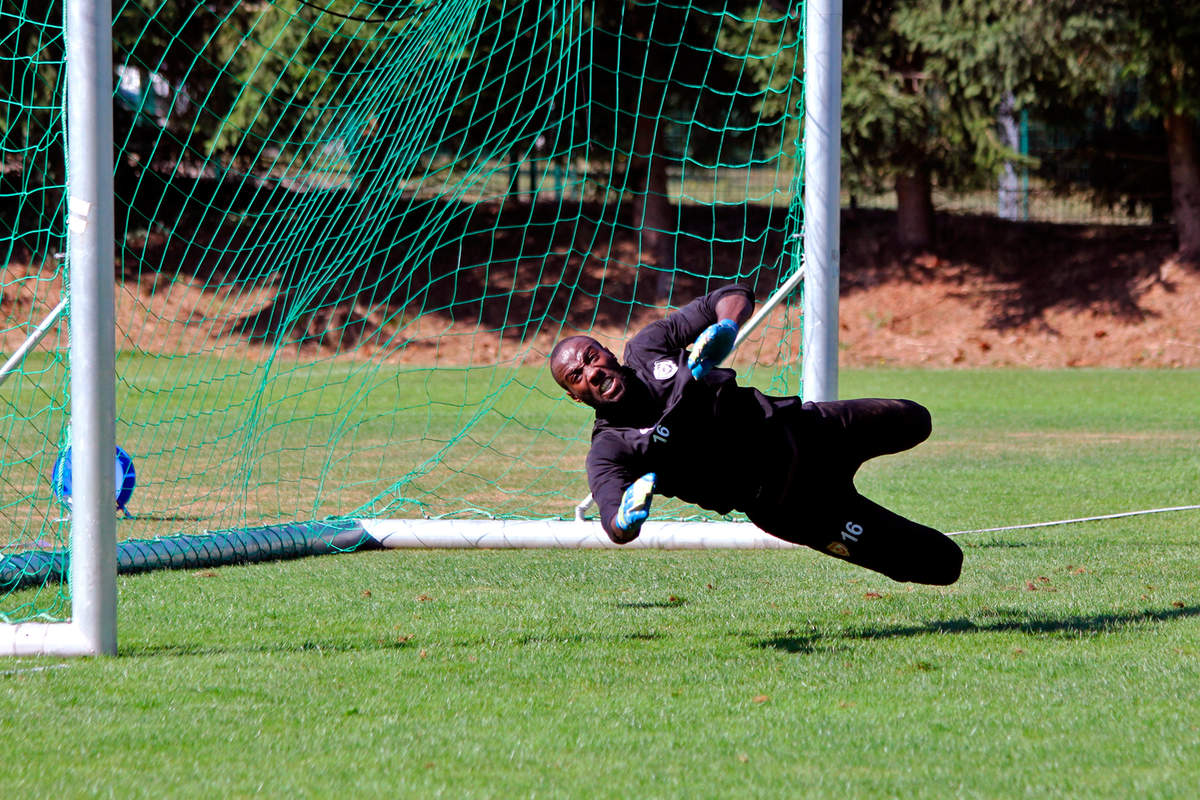
<svg viewBox="0 0 1200 800">
<path fill-rule="evenodd" d="M 677 157 L 692 150 L 708 160 L 721 143 L 778 150 L 781 137 L 796 138 L 798 29 L 784 13 L 748 5 L 730 14 L 716 2 L 128 0 L 114 37 L 119 62 L 160 74 L 190 100 L 167 124 L 175 157 L 270 169 L 313 157 L 301 142 L 311 150 L 336 139 L 371 181 L 439 155 L 623 161 L 640 116 L 683 140 Z M 562 73 L 571 52 L 578 72 Z M 371 66 L 389 71 L 397 60 L 401 72 Z M 364 91 L 374 95 L 367 113 L 340 116 L 340 104 Z M 731 103 L 738 94 L 755 100 Z M 589 110 L 572 113 L 564 101 Z M 769 130 L 785 121 L 787 132 Z M 155 131 L 120 127 L 131 131 L 126 156 L 168 155 Z M 301 128 L 318 139 L 294 138 Z"/>
</svg>

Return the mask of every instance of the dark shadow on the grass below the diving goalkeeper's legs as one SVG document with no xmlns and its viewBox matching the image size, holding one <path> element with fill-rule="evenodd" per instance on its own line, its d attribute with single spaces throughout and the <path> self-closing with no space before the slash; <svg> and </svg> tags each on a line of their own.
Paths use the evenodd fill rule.
<svg viewBox="0 0 1200 800">
<path fill-rule="evenodd" d="M 896 637 L 925 636 L 929 633 L 1003 633 L 1019 632 L 1030 636 L 1066 634 L 1090 636 L 1112 633 L 1118 628 L 1142 622 L 1166 622 L 1176 619 L 1200 616 L 1200 606 L 1171 607 L 1168 609 L 1147 609 L 1138 613 L 1098 614 L 1096 616 L 1066 616 L 1048 619 L 1044 616 L 1024 615 L 1013 612 L 1014 619 L 991 622 L 976 622 L 966 618 L 935 620 L 924 625 L 901 625 L 896 627 L 847 630 L 839 633 L 811 633 L 798 636 L 788 632 L 773 636 L 756 643 L 760 648 L 774 648 L 785 652 L 816 652 L 835 646 L 839 642 L 862 639 L 890 639 Z"/>
</svg>

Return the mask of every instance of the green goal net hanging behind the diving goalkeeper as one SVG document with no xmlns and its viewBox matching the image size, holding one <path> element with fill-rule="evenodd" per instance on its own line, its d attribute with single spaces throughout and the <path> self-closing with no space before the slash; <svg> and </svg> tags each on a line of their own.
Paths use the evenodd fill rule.
<svg viewBox="0 0 1200 800">
<path fill-rule="evenodd" d="M 113 13 L 122 540 L 570 517 L 592 420 L 550 379 L 553 342 L 619 354 L 799 263 L 798 4 Z M 66 548 L 62 42 L 61 0 L 0 11 L 0 557 Z M 798 392 L 799 323 L 788 299 L 742 378 Z M 60 581 L 16 585 L 0 620 L 68 613 Z"/>
</svg>

